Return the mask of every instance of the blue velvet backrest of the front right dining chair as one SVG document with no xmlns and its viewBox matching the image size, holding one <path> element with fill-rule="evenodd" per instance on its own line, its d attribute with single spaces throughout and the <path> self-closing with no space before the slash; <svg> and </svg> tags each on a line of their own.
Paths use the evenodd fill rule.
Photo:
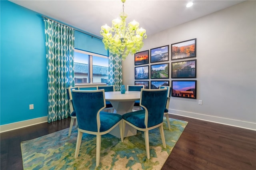
<svg viewBox="0 0 256 170">
<path fill-rule="evenodd" d="M 163 122 L 166 89 L 141 89 L 140 106 L 145 109 L 145 125 L 153 127 Z"/>
</svg>

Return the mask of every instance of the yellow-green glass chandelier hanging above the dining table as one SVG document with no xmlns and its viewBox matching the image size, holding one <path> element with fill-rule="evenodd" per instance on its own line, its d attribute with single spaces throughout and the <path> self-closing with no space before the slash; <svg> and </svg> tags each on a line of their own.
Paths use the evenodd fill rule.
<svg viewBox="0 0 256 170">
<path fill-rule="evenodd" d="M 110 53 L 121 56 L 124 60 L 127 55 L 140 51 L 144 43 L 143 38 L 147 38 L 146 30 L 139 28 L 139 23 L 133 20 L 126 27 L 127 14 L 124 13 L 124 2 L 123 12 L 120 13 L 120 18 L 112 20 L 112 27 L 104 25 L 101 26 L 100 34 L 103 36 L 102 42 L 105 45 L 105 49 L 109 50 Z"/>
</svg>

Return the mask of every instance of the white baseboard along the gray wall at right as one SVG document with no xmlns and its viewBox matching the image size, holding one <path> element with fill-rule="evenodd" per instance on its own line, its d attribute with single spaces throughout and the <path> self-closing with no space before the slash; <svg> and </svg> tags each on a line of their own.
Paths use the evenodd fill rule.
<svg viewBox="0 0 256 170">
<path fill-rule="evenodd" d="M 199 113 L 179 111 L 179 110 L 174 110 L 174 109 L 169 109 L 168 113 L 173 114 L 173 115 L 178 115 L 178 116 L 199 119 L 202 121 L 220 123 L 223 125 L 229 125 L 229 126 L 233 126 L 233 127 L 240 127 L 240 128 L 250 129 L 250 130 L 256 130 L 256 123 L 253 123 L 253 122 L 245 122 L 245 121 L 239 121 L 239 120 L 234 120 L 234 119 L 227 119 L 227 118 L 223 118 L 223 117 L 215 117 L 215 116 L 203 115 L 203 114 L 199 114 Z"/>
</svg>

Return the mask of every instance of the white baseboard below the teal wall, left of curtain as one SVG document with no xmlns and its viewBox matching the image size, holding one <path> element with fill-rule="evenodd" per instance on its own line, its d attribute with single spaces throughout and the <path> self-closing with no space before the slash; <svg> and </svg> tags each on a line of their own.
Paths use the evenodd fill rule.
<svg viewBox="0 0 256 170">
<path fill-rule="evenodd" d="M 26 121 L 9 123 L 9 124 L 6 124 L 6 125 L 0 125 L 0 133 L 7 132 L 7 131 L 10 131 L 10 130 L 15 130 L 15 129 L 18 129 L 18 128 L 29 127 L 29 126 L 44 123 L 44 122 L 47 122 L 47 116 L 39 117 L 39 118 L 35 118 L 35 119 L 29 119 L 29 120 L 26 120 Z"/>
</svg>

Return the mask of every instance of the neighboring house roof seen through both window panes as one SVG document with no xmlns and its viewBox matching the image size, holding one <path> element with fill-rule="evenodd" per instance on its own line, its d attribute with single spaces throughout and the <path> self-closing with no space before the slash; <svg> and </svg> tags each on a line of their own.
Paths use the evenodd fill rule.
<svg viewBox="0 0 256 170">
<path fill-rule="evenodd" d="M 108 74 L 108 67 L 103 67 L 99 65 L 92 65 L 94 74 Z M 74 63 L 74 72 L 75 73 L 88 73 L 88 64 L 83 63 Z"/>
</svg>

